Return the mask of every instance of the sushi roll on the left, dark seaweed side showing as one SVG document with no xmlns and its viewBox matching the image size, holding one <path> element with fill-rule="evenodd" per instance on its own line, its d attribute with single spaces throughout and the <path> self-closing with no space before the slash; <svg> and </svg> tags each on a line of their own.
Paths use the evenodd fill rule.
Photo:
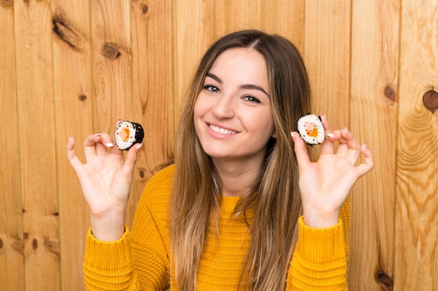
<svg viewBox="0 0 438 291">
<path fill-rule="evenodd" d="M 115 128 L 114 140 L 119 149 L 127 151 L 134 144 L 143 141 L 144 131 L 141 124 L 130 121 L 120 121 Z"/>
</svg>

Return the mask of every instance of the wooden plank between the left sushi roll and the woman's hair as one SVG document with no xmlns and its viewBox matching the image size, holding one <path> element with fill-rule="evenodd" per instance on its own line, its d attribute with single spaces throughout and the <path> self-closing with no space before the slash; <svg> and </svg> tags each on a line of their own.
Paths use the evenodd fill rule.
<svg viewBox="0 0 438 291">
<path fill-rule="evenodd" d="M 145 130 L 134 172 L 135 202 L 148 179 L 173 161 L 175 108 L 170 15 L 171 1 L 132 1 L 133 119 L 141 122 Z"/>
</svg>

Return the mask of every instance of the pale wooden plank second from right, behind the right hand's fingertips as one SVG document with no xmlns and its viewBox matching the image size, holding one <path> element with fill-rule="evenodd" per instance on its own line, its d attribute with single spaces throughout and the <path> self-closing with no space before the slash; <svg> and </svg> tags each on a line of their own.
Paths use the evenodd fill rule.
<svg viewBox="0 0 438 291">
<path fill-rule="evenodd" d="M 374 155 L 351 195 L 351 290 L 393 290 L 398 1 L 353 1 L 350 129 Z M 383 182 L 384 181 L 384 182 Z"/>
</svg>

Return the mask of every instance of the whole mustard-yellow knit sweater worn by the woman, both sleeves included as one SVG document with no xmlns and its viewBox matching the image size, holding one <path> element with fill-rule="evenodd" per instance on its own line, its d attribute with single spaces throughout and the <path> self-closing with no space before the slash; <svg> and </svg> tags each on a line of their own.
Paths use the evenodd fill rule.
<svg viewBox="0 0 438 291">
<path fill-rule="evenodd" d="M 148 181 L 134 217 L 118 241 L 87 235 L 84 272 L 87 290 L 167 290 L 169 271 L 169 200 L 174 166 Z M 199 290 L 235 291 L 243 258 L 250 243 L 243 217 L 232 211 L 238 197 L 223 197 L 220 206 L 220 236 L 209 232 L 198 269 Z M 194 209 L 195 211 L 195 209 Z M 298 241 L 288 270 L 286 290 L 347 290 L 348 200 L 340 223 L 313 229 L 299 218 Z M 212 229 L 213 230 L 213 229 Z M 211 235 L 210 235 L 211 234 Z"/>
</svg>

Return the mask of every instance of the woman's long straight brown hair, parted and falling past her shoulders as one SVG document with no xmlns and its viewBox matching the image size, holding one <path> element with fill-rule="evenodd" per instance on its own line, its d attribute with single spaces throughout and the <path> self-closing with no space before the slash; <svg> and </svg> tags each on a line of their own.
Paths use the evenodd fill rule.
<svg viewBox="0 0 438 291">
<path fill-rule="evenodd" d="M 290 132 L 310 112 L 311 91 L 304 62 L 289 40 L 262 31 L 236 31 L 213 43 L 199 63 L 188 89 L 176 137 L 176 172 L 171 197 L 171 269 L 179 290 L 195 290 L 209 223 L 218 223 L 220 179 L 202 149 L 193 108 L 206 73 L 217 57 L 233 47 L 252 47 L 267 63 L 276 138 L 268 142 L 262 174 L 250 195 L 234 210 L 253 209 L 251 242 L 241 285 L 248 290 L 284 290 L 302 211 L 297 159 Z M 213 221 L 211 221 L 213 220 Z M 236 288 L 237 289 L 237 288 Z"/>
</svg>

